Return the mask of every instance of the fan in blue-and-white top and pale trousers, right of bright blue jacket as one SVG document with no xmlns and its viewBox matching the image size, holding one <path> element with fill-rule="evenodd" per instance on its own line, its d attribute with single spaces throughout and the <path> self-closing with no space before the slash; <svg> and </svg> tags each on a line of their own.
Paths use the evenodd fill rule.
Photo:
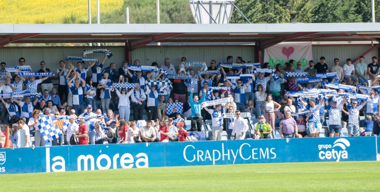
<svg viewBox="0 0 380 192">
<path fill-rule="evenodd" d="M 215 110 L 208 109 L 207 107 L 203 108 L 211 114 L 212 118 L 212 140 L 221 140 L 221 135 L 223 131 L 223 116 L 221 115 L 221 105 L 218 104 L 215 106 Z"/>
</svg>

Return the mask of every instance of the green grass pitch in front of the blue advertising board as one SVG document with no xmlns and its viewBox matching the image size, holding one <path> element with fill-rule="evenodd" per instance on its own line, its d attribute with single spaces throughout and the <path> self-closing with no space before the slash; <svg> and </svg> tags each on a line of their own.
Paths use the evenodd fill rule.
<svg viewBox="0 0 380 192">
<path fill-rule="evenodd" d="M 379 191 L 380 162 L 276 163 L 0 175 L 1 191 Z"/>
</svg>

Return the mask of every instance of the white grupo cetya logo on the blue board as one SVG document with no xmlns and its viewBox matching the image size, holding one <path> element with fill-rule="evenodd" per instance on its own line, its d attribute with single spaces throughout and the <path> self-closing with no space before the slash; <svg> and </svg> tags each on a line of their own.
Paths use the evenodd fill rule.
<svg viewBox="0 0 380 192">
<path fill-rule="evenodd" d="M 318 145 L 318 149 L 320 150 L 319 158 L 321 160 L 334 159 L 336 162 L 340 159 L 348 159 L 348 152 L 346 151 L 348 147 L 350 147 L 350 141 L 345 138 L 336 139 L 332 145 Z"/>
</svg>

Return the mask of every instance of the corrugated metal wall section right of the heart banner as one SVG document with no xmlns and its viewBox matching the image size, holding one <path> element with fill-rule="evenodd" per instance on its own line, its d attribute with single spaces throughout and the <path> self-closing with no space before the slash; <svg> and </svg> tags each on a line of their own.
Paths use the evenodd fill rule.
<svg viewBox="0 0 380 192">
<path fill-rule="evenodd" d="M 371 45 L 358 45 L 358 46 L 313 46 L 313 61 L 314 64 L 318 63 L 320 57 L 326 58 L 326 64 L 329 68 L 334 65 L 334 59 L 339 59 L 339 65 L 343 66 L 346 64 L 347 59 L 354 60 L 361 54 L 365 53 L 371 49 Z M 372 57 L 376 56 L 378 58 L 378 50 L 374 49 L 371 53 L 364 56 L 364 63 L 368 64 L 372 62 Z M 358 63 L 355 62 L 355 63 Z"/>
</svg>

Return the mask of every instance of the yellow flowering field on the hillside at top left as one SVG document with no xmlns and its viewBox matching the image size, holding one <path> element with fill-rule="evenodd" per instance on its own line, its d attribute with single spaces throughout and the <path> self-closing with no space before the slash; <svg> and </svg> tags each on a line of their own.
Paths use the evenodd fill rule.
<svg viewBox="0 0 380 192">
<path fill-rule="evenodd" d="M 100 15 L 121 10 L 123 3 L 100 0 Z M 96 0 L 91 0 L 92 18 L 96 12 Z M 63 23 L 67 18 L 87 23 L 88 0 L 0 0 L 0 23 Z"/>
</svg>

